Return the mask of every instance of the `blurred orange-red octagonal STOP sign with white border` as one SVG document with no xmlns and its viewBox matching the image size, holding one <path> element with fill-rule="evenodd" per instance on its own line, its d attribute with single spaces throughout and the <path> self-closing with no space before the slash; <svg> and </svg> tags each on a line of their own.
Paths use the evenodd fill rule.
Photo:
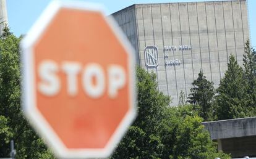
<svg viewBox="0 0 256 159">
<path fill-rule="evenodd" d="M 108 157 L 135 118 L 134 52 L 116 26 L 53 1 L 21 43 L 23 110 L 58 157 Z"/>
</svg>

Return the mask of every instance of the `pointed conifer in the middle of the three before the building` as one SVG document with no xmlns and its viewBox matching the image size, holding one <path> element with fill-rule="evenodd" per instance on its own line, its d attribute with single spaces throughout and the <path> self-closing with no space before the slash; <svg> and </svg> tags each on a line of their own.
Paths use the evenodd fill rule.
<svg viewBox="0 0 256 159">
<path fill-rule="evenodd" d="M 217 89 L 216 116 L 218 120 L 243 118 L 249 112 L 246 107 L 247 92 L 242 67 L 237 64 L 234 55 L 229 57 L 228 70 Z"/>
</svg>

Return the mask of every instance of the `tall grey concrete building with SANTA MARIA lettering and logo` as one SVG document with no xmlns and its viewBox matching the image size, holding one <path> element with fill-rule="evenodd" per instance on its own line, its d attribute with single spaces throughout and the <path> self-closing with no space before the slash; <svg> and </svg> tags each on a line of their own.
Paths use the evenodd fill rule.
<svg viewBox="0 0 256 159">
<path fill-rule="evenodd" d="M 249 39 L 247 1 L 134 4 L 113 14 L 140 67 L 157 75 L 158 89 L 177 105 L 200 70 L 215 87 L 230 54 L 240 65 Z"/>
</svg>

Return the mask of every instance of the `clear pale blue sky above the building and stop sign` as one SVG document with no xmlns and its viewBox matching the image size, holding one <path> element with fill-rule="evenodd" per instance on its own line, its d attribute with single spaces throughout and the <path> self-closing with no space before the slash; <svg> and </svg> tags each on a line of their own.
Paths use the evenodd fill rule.
<svg viewBox="0 0 256 159">
<path fill-rule="evenodd" d="M 16 36 L 26 34 L 27 31 L 35 23 L 49 2 L 53 0 L 6 0 L 7 14 L 9 19 L 9 27 Z M 85 1 L 85 0 L 80 0 Z M 117 10 L 132 4 L 140 3 L 160 3 L 160 2 L 193 2 L 207 0 L 87 0 L 88 2 L 96 2 L 105 6 L 108 14 L 112 14 Z M 213 1 L 213 0 L 210 0 Z M 218 0 L 216 0 L 218 1 Z M 251 45 L 256 48 L 256 1 L 247 0 L 249 10 L 250 40 Z"/>
</svg>

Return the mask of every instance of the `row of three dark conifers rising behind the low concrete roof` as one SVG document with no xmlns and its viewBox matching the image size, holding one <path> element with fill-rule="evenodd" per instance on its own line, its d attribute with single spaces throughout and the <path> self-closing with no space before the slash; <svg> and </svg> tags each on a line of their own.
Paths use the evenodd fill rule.
<svg viewBox="0 0 256 159">
<path fill-rule="evenodd" d="M 226 120 L 256 115 L 256 54 L 245 44 L 244 70 L 237 64 L 234 55 L 229 57 L 228 70 L 215 91 L 202 72 L 190 89 L 190 104 L 196 104 L 199 116 L 205 120 Z M 214 97 L 214 99 L 213 99 Z"/>
</svg>

